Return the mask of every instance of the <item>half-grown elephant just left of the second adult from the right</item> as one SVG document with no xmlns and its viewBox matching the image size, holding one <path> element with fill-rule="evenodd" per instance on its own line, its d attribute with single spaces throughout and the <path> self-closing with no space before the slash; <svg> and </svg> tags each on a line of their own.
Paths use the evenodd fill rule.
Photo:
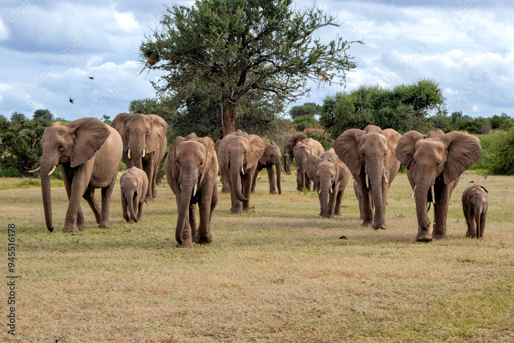
<svg viewBox="0 0 514 343">
<path fill-rule="evenodd" d="M 350 180 L 350 170 L 337 157 L 334 149 L 321 156 L 310 155 L 305 161 L 305 172 L 318 184 L 318 197 L 323 218 L 341 215 L 341 200 Z"/>
</svg>

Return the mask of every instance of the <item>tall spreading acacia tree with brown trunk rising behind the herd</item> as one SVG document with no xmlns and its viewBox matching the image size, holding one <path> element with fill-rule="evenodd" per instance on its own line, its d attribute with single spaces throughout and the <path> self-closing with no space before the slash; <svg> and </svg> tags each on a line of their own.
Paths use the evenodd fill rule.
<svg viewBox="0 0 514 343">
<path fill-rule="evenodd" d="M 337 36 L 328 45 L 313 34 L 339 26 L 316 4 L 291 9 L 291 0 L 197 0 L 189 8 L 167 7 L 161 28 L 140 46 L 144 68 L 166 71 L 152 82 L 158 95 L 186 98 L 209 81 L 221 89 L 223 135 L 235 131 L 237 105 L 252 91 L 294 101 L 310 91 L 308 80 L 344 84 L 355 68 L 350 43 Z M 360 43 L 360 42 L 358 42 Z M 160 63 L 159 63 L 160 62 Z M 144 69 L 143 69 L 144 70 Z"/>
</svg>

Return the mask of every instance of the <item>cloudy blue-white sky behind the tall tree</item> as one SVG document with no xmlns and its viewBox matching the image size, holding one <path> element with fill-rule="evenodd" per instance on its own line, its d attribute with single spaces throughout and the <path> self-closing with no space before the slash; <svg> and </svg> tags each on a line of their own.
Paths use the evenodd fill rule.
<svg viewBox="0 0 514 343">
<path fill-rule="evenodd" d="M 190 1 L 179 1 L 190 6 Z M 0 114 L 31 118 L 113 119 L 134 99 L 153 98 L 140 74 L 138 47 L 168 1 L 2 0 L 0 3 Z M 297 7 L 310 4 L 302 0 Z M 319 32 L 361 40 L 346 90 L 362 84 L 394 86 L 429 78 L 442 86 L 449 113 L 514 116 L 514 2 L 510 0 L 318 0 L 341 26 Z M 94 77 L 94 80 L 88 79 Z M 311 84 L 304 102 L 321 104 L 340 86 Z M 74 104 L 68 100 L 74 99 Z M 289 107 L 290 107 L 289 106 Z"/>
</svg>

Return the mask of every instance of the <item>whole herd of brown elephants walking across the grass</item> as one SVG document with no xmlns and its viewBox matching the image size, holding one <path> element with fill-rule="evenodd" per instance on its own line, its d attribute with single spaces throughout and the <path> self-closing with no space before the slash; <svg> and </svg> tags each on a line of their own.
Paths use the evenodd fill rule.
<svg viewBox="0 0 514 343">
<path fill-rule="evenodd" d="M 47 128 L 41 140 L 43 154 L 41 186 L 46 226 L 53 231 L 50 175 L 59 165 L 69 205 L 63 231 L 85 228 L 80 206 L 83 197 L 95 214 L 100 228 L 109 228 L 109 204 L 121 160 L 127 169 L 120 178 L 123 218 L 141 220 L 143 202 L 157 195 L 156 176 L 166 153 L 168 124 L 156 115 L 120 113 L 109 127 L 96 118 L 83 118 Z M 250 209 L 250 193 L 257 175 L 267 169 L 269 191 L 281 194 L 281 157 L 284 171 L 290 174 L 292 160 L 297 162 L 297 189 L 318 192 L 320 215 L 340 215 L 345 187 L 354 178 L 363 226 L 386 228 L 387 194 L 400 163 L 415 196 L 418 233 L 416 241 L 429 242 L 446 237 L 446 218 L 451 193 L 461 174 L 480 158 L 477 138 L 464 132 L 431 131 L 427 135 L 410 131 L 400 135 L 393 129 L 381 130 L 368 125 L 364 130 L 343 132 L 329 151 L 304 135 L 287 137 L 283 152 L 274 143 L 241 130 L 216 143 L 194 133 L 177 137 L 168 152 L 164 170 L 176 196 L 177 247 L 210 243 L 210 223 L 218 202 L 217 176 L 222 191 L 230 192 L 231 213 Z M 289 155 L 289 159 L 287 159 Z M 275 173 L 276 172 L 276 173 Z M 275 184 L 275 176 L 277 184 Z M 101 206 L 95 189 L 101 188 Z M 433 230 L 427 203 L 433 203 Z M 487 215 L 487 190 L 469 187 L 462 196 L 468 224 L 467 237 L 483 237 Z M 199 223 L 196 223 L 196 204 Z"/>
</svg>

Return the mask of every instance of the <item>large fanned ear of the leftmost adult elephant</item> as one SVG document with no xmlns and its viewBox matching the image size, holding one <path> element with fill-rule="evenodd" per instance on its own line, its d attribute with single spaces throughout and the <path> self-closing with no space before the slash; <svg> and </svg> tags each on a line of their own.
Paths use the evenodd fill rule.
<svg viewBox="0 0 514 343">
<path fill-rule="evenodd" d="M 107 124 L 97 118 L 82 118 L 66 125 L 75 136 L 69 156 L 70 167 L 75 168 L 85 163 L 102 147 L 111 134 Z"/>
</svg>

